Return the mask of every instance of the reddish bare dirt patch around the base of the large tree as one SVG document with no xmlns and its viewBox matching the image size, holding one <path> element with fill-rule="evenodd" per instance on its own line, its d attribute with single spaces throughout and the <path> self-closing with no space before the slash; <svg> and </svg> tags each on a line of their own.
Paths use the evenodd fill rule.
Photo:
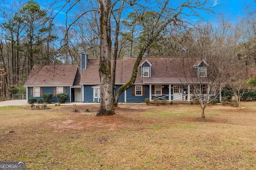
<svg viewBox="0 0 256 170">
<path fill-rule="evenodd" d="M 48 125 L 57 127 L 58 129 L 85 129 L 90 127 L 106 127 L 109 130 L 115 130 L 120 127 L 130 128 L 141 124 L 151 124 L 155 120 L 136 116 L 138 111 L 143 111 L 144 108 L 136 107 L 116 107 L 116 115 L 96 116 L 98 106 L 68 106 L 58 108 L 58 112 L 69 111 L 66 114 L 64 121 L 49 122 Z"/>
</svg>

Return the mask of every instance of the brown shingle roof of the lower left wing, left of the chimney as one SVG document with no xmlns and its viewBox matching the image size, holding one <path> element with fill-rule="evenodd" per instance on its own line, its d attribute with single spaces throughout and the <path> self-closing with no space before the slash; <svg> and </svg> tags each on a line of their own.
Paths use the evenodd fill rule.
<svg viewBox="0 0 256 170">
<path fill-rule="evenodd" d="M 78 65 L 35 65 L 24 86 L 73 86 Z"/>
</svg>

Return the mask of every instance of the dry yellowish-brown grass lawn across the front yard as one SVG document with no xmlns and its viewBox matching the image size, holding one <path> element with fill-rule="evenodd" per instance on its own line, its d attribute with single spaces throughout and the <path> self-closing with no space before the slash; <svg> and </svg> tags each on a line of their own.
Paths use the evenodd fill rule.
<svg viewBox="0 0 256 170">
<path fill-rule="evenodd" d="M 256 169 L 256 102 L 242 109 L 196 105 L 119 105 L 48 110 L 0 107 L 0 160 L 32 170 Z M 76 111 L 74 111 L 76 107 Z"/>
</svg>

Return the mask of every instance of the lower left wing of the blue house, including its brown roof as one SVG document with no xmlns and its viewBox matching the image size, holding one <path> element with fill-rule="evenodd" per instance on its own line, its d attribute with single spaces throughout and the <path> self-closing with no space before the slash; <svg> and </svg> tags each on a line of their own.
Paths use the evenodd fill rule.
<svg viewBox="0 0 256 170">
<path fill-rule="evenodd" d="M 81 101 L 81 74 L 78 65 L 35 65 L 24 86 L 28 98 L 42 98 L 45 93 L 52 93 L 52 102 L 58 103 L 58 93 L 68 93 L 66 102 Z"/>
</svg>

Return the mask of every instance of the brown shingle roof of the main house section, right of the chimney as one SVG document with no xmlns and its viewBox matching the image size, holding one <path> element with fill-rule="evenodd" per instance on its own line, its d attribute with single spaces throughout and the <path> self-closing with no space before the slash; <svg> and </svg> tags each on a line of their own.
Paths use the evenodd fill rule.
<svg viewBox="0 0 256 170">
<path fill-rule="evenodd" d="M 140 64 L 145 60 L 152 64 L 151 77 L 141 78 L 139 66 L 134 84 L 161 82 L 168 84 L 187 81 L 197 82 L 199 80 L 193 66 L 201 61 L 200 57 L 143 57 Z M 117 60 L 116 84 L 125 84 L 130 80 L 135 61 L 136 57 L 124 57 L 124 59 Z M 98 69 L 99 60 L 89 60 L 87 68 L 83 70 L 80 84 L 100 84 Z"/>
</svg>

